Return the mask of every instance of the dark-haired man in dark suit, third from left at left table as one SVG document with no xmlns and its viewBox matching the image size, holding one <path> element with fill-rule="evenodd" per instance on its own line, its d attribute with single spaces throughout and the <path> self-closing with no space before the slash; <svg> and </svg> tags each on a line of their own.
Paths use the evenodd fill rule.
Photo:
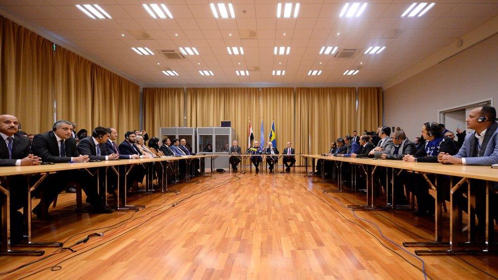
<svg viewBox="0 0 498 280">
<path fill-rule="evenodd" d="M 106 142 L 109 139 L 109 132 L 102 126 L 97 126 L 92 131 L 92 136 L 80 140 L 78 150 L 81 155 L 88 155 L 90 160 L 117 160 L 116 153 L 107 154 Z"/>
</svg>

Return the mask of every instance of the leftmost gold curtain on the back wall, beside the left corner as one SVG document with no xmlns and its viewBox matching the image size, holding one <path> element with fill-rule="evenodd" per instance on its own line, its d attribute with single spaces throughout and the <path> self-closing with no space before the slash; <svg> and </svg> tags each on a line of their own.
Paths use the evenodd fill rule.
<svg viewBox="0 0 498 280">
<path fill-rule="evenodd" d="M 183 126 L 183 88 L 144 88 L 142 96 L 144 129 L 150 137 L 162 140 L 159 128 Z"/>
</svg>

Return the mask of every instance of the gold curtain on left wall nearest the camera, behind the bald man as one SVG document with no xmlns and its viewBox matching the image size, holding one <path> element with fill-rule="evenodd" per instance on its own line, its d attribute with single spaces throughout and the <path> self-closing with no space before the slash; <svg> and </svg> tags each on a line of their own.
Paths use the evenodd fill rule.
<svg viewBox="0 0 498 280">
<path fill-rule="evenodd" d="M 54 120 L 52 43 L 0 16 L 0 111 L 40 133 Z"/>
</svg>

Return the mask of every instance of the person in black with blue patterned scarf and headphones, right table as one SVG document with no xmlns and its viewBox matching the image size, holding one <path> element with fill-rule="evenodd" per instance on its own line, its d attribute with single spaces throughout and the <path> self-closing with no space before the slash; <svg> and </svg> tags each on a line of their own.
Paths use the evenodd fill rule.
<svg viewBox="0 0 498 280">
<path fill-rule="evenodd" d="M 418 149 L 415 154 L 406 155 L 403 160 L 406 162 L 433 162 L 437 163 L 439 152 L 451 153 L 455 150 L 455 143 L 451 138 L 443 137 L 442 130 L 437 122 L 426 122 L 422 125 L 422 137 L 426 139 L 423 149 Z M 429 178 L 433 177 L 428 175 Z M 403 182 L 417 198 L 416 215 L 430 216 L 434 214 L 434 197 L 429 194 L 429 185 L 421 174 L 403 172 Z M 439 182 L 439 186 L 444 185 Z"/>
</svg>

